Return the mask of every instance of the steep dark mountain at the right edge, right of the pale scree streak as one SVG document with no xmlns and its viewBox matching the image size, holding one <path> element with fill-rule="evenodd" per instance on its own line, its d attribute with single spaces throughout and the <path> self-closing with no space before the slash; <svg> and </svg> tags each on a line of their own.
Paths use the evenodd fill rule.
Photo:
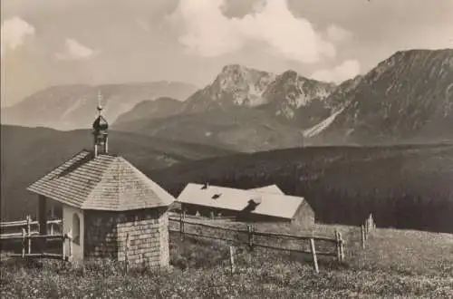
<svg viewBox="0 0 453 299">
<path fill-rule="evenodd" d="M 321 140 L 379 144 L 453 139 L 453 49 L 394 53 L 344 91 L 342 102 L 344 110 Z"/>
</svg>

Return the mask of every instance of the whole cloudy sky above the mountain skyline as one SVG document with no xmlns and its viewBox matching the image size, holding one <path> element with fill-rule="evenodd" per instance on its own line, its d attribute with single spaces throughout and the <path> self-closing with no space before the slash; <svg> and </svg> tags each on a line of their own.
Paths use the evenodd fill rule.
<svg viewBox="0 0 453 299">
<path fill-rule="evenodd" d="M 1 0 L 2 107 L 58 84 L 180 81 L 226 64 L 342 82 L 453 48 L 453 0 Z"/>
</svg>

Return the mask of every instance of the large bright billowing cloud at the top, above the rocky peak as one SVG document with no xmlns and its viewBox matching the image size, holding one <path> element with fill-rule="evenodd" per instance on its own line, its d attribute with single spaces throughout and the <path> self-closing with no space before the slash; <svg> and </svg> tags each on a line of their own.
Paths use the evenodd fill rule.
<svg viewBox="0 0 453 299">
<path fill-rule="evenodd" d="M 225 0 L 179 1 L 171 19 L 183 28 L 178 41 L 189 53 L 212 57 L 258 42 L 270 53 L 301 63 L 336 54 L 333 43 L 323 40 L 308 20 L 294 16 L 285 0 L 259 2 L 252 13 L 232 18 L 222 13 L 223 5 Z"/>
</svg>

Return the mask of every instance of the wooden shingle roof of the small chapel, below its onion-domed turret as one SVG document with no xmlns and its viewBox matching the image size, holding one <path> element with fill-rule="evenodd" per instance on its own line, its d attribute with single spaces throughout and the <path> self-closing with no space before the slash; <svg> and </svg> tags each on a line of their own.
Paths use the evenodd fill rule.
<svg viewBox="0 0 453 299">
<path fill-rule="evenodd" d="M 82 209 L 124 211 L 167 207 L 175 198 L 126 159 L 94 157 L 82 150 L 27 188 L 36 194 Z"/>
</svg>

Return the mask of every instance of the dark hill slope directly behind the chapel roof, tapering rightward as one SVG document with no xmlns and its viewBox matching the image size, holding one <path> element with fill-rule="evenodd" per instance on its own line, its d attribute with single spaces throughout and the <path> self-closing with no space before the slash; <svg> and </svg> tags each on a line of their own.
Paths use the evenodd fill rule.
<svg viewBox="0 0 453 299">
<path fill-rule="evenodd" d="M 89 130 L 58 131 L 2 126 L 2 218 L 35 212 L 34 196 L 25 190 L 37 178 L 82 149 L 92 149 Z M 231 151 L 181 141 L 161 140 L 111 131 L 109 148 L 142 171 L 165 168 L 193 159 L 231 154 Z"/>
</svg>

